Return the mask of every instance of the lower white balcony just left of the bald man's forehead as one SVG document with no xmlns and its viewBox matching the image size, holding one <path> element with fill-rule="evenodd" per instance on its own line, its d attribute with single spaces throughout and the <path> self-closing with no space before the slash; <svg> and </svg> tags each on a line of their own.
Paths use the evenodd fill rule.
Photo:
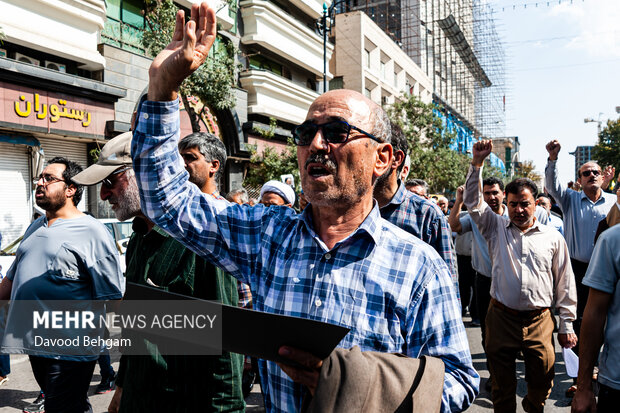
<svg viewBox="0 0 620 413">
<path fill-rule="evenodd" d="M 248 91 L 248 114 L 273 116 L 285 122 L 303 122 L 310 104 L 319 96 L 267 70 L 248 70 L 241 73 L 239 80 Z"/>
</svg>

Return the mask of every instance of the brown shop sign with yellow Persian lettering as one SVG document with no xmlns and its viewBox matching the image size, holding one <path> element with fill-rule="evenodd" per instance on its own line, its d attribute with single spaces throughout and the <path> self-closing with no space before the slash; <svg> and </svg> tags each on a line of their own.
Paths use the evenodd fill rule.
<svg viewBox="0 0 620 413">
<path fill-rule="evenodd" d="M 0 101 L 0 120 L 47 132 L 104 136 L 106 121 L 114 119 L 113 103 L 4 82 L 0 82 Z"/>
</svg>

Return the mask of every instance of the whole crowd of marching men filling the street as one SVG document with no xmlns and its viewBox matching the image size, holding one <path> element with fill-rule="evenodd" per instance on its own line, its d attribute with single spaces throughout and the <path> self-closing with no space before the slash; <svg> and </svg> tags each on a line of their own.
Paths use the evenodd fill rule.
<svg viewBox="0 0 620 413">
<path fill-rule="evenodd" d="M 348 327 L 327 359 L 283 345 L 280 361 L 259 360 L 268 412 L 466 410 L 480 386 L 463 323 L 469 312 L 481 327 L 495 411 L 516 411 L 518 357 L 523 409 L 544 410 L 554 331 L 581 357 L 568 389 L 573 411 L 596 408 L 594 374 L 598 411 L 614 411 L 620 191 L 603 191 L 613 168 L 588 162 L 581 190 L 568 189 L 552 141 L 543 193 L 526 178 L 504 187 L 483 179 L 492 143 L 481 140 L 450 208 L 424 181 L 407 179 L 416 172 L 407 139 L 383 109 L 341 89 L 319 96 L 293 130 L 300 194 L 273 180 L 256 201 L 242 188 L 224 197 L 221 140 L 180 136 L 178 88 L 216 32 L 206 3 L 191 13 L 185 23 L 179 11 L 172 42 L 151 65 L 134 130 L 107 142 L 86 170 L 54 158 L 36 179 L 46 215 L 28 228 L 0 300 L 117 300 L 127 280 Z M 133 218 L 124 274 L 105 228 L 76 207 L 84 186 L 96 184 L 119 220 Z M 8 324 L 12 317 L 9 310 Z M 2 347 L 23 350 L 22 340 L 5 335 Z M 242 355 L 166 355 L 156 342 L 143 345 L 148 355 L 122 355 L 109 412 L 244 410 Z M 89 411 L 97 359 L 31 355 L 45 395 L 40 411 Z"/>
</svg>

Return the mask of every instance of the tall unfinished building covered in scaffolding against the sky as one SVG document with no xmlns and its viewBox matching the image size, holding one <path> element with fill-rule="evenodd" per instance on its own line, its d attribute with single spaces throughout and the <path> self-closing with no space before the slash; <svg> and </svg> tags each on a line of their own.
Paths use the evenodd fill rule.
<svg viewBox="0 0 620 413">
<path fill-rule="evenodd" d="M 345 0 L 426 73 L 434 101 L 475 137 L 504 136 L 505 53 L 487 0 Z"/>
</svg>

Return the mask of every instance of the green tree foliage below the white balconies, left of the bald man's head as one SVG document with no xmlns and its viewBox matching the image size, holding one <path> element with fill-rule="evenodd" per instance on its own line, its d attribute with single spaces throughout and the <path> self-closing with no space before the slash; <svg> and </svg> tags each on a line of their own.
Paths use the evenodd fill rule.
<svg viewBox="0 0 620 413">
<path fill-rule="evenodd" d="M 243 181 L 244 186 L 260 187 L 271 179 L 280 180 L 280 175 L 292 174 L 295 177 L 295 187 L 300 189 L 299 167 L 297 165 L 297 146 L 289 138 L 286 148 L 278 151 L 273 146 L 267 146 L 262 152 L 252 151 L 248 171 Z"/>
</svg>

